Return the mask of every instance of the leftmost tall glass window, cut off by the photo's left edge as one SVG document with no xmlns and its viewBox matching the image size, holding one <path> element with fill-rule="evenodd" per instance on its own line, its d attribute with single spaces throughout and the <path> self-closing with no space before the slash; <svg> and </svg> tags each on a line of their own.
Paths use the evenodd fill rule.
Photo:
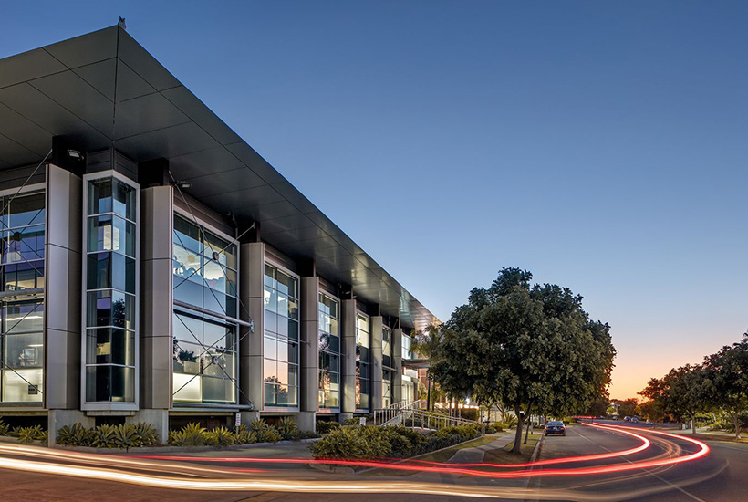
<svg viewBox="0 0 748 502">
<path fill-rule="evenodd" d="M 42 402 L 44 244 L 45 193 L 0 197 L 2 403 Z"/>
</svg>

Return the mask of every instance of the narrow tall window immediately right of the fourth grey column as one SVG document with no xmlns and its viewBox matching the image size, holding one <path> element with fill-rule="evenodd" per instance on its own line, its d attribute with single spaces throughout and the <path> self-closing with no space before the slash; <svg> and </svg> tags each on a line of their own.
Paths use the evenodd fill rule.
<svg viewBox="0 0 748 502">
<path fill-rule="evenodd" d="M 340 303 L 319 295 L 319 407 L 340 407 Z"/>
</svg>

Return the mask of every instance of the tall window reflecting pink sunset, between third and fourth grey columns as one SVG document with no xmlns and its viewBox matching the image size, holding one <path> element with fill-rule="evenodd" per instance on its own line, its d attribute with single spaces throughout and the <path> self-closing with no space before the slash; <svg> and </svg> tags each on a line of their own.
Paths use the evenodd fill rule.
<svg viewBox="0 0 748 502">
<path fill-rule="evenodd" d="M 298 406 L 298 279 L 265 264 L 265 406 Z"/>
</svg>

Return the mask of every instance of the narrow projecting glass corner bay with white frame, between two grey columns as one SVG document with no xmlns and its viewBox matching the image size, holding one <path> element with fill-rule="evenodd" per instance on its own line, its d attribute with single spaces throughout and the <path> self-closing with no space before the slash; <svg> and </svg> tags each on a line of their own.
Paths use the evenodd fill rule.
<svg viewBox="0 0 748 502">
<path fill-rule="evenodd" d="M 137 189 L 88 182 L 86 401 L 135 402 Z"/>
</svg>

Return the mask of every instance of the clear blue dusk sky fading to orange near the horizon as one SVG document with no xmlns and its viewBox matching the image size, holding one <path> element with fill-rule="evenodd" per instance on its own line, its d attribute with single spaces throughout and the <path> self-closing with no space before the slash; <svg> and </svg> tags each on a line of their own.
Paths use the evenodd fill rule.
<svg viewBox="0 0 748 502">
<path fill-rule="evenodd" d="M 746 2 L 16 2 L 0 57 L 118 16 L 442 320 L 527 268 L 621 399 L 748 328 Z"/>
</svg>

